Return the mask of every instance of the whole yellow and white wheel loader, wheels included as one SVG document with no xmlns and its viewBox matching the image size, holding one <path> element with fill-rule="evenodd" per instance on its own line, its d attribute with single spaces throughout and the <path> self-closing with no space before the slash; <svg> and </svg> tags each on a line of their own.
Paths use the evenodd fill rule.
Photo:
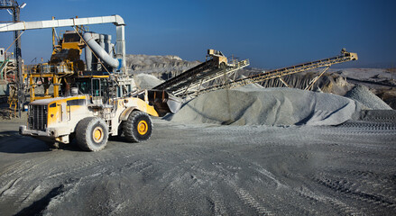
<svg viewBox="0 0 396 216">
<path fill-rule="evenodd" d="M 149 104 L 147 91 L 134 96 L 110 99 L 90 94 L 37 100 L 29 104 L 27 126 L 20 134 L 48 144 L 68 144 L 75 137 L 79 148 L 98 151 L 109 136 L 124 134 L 127 141 L 150 139 L 152 119 L 159 116 Z"/>
</svg>

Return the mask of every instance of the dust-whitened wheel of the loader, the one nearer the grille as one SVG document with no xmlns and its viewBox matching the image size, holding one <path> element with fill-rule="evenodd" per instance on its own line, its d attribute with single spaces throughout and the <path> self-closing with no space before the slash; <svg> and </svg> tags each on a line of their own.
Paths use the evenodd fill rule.
<svg viewBox="0 0 396 216">
<path fill-rule="evenodd" d="M 87 151 L 98 151 L 106 147 L 108 128 L 105 121 L 87 117 L 78 122 L 76 128 L 78 147 Z"/>
</svg>

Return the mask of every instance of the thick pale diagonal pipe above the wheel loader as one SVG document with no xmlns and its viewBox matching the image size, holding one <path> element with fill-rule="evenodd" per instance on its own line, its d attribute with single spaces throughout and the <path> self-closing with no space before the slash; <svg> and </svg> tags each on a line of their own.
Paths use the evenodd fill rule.
<svg viewBox="0 0 396 216">
<path fill-rule="evenodd" d="M 110 67 L 114 67 L 117 70 L 121 69 L 123 66 L 123 59 L 116 59 L 112 58 L 105 49 L 103 49 L 97 41 L 93 38 L 93 34 L 91 32 L 87 32 L 83 36 L 84 40 L 86 40 L 87 45 L 89 46 L 90 49 L 92 49 L 95 54 L 97 55 L 98 58 L 102 59 L 103 61 L 106 62 L 107 65 Z M 86 48 L 86 49 L 89 49 Z"/>
</svg>

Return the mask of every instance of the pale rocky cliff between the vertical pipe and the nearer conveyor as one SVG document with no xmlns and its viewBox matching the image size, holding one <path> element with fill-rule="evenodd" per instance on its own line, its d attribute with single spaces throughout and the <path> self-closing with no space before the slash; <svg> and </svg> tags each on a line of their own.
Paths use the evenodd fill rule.
<svg viewBox="0 0 396 216">
<path fill-rule="evenodd" d="M 126 67 L 132 74 L 179 74 L 195 67 L 199 61 L 187 61 L 178 56 L 126 55 Z"/>
</svg>

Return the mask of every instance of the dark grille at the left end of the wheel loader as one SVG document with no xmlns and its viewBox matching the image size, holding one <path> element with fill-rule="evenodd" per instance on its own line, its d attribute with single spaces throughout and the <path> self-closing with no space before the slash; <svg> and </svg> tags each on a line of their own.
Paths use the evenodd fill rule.
<svg viewBox="0 0 396 216">
<path fill-rule="evenodd" d="M 29 129 L 47 129 L 47 105 L 29 105 Z"/>
</svg>

